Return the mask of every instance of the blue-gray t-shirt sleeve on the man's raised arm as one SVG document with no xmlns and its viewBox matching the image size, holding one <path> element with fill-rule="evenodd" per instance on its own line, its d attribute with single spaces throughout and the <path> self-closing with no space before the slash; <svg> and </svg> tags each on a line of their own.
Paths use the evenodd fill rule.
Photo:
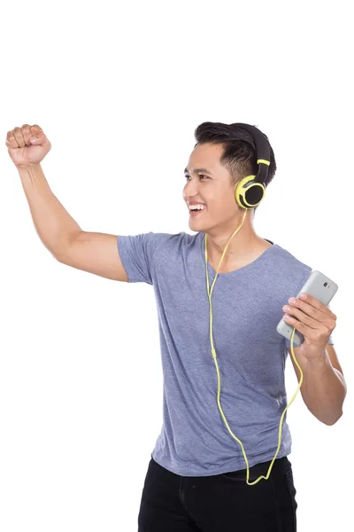
<svg viewBox="0 0 354 532">
<path fill-rule="evenodd" d="M 153 284 L 155 273 L 154 252 L 160 233 L 118 235 L 117 246 L 120 261 L 127 272 L 128 283 Z"/>
</svg>

